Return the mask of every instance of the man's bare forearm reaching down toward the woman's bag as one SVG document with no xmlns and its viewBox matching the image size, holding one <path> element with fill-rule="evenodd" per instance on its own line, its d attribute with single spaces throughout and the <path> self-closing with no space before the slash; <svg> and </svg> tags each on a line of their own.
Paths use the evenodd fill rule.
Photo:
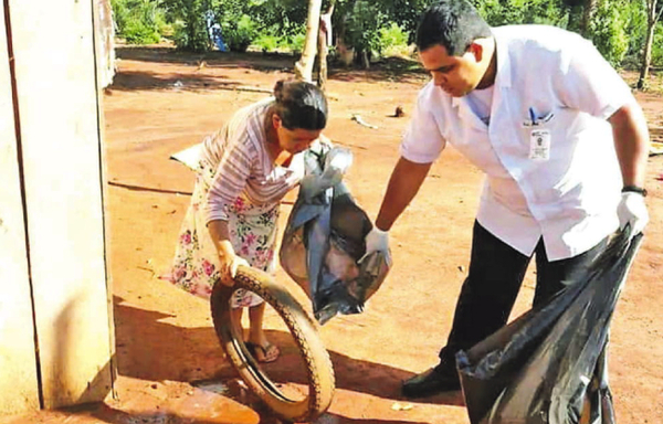
<svg viewBox="0 0 663 424">
<path fill-rule="evenodd" d="M 432 163 L 414 163 L 400 158 L 387 186 L 387 193 L 376 219 L 376 226 L 389 231 L 412 201 Z"/>
</svg>

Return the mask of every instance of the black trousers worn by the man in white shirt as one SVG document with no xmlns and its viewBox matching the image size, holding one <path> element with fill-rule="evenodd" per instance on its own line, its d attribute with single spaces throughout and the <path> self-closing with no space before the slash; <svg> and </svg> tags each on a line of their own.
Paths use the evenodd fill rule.
<svg viewBox="0 0 663 424">
<path fill-rule="evenodd" d="M 581 276 L 608 244 L 568 259 L 548 261 L 543 240 L 537 244 L 534 306 L 545 303 Z M 525 256 L 474 222 L 470 272 L 459 297 L 453 327 L 440 351 L 440 365 L 455 369 L 455 353 L 469 349 L 503 327 L 514 307 L 532 257 Z"/>
</svg>

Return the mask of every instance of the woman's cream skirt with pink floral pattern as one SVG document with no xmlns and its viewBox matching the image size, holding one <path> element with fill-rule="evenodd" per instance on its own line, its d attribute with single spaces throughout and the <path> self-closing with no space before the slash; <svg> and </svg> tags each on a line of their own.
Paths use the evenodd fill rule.
<svg viewBox="0 0 663 424">
<path fill-rule="evenodd" d="M 207 199 L 214 170 L 200 162 L 191 204 L 182 222 L 169 280 L 176 286 L 203 298 L 209 298 L 219 280 L 217 248 L 207 230 L 201 204 Z M 235 252 L 251 266 L 273 273 L 276 266 L 276 223 L 278 202 L 252 204 L 239 197 L 228 208 L 230 241 Z M 250 307 L 263 300 L 254 293 L 236 289 L 231 306 Z"/>
</svg>

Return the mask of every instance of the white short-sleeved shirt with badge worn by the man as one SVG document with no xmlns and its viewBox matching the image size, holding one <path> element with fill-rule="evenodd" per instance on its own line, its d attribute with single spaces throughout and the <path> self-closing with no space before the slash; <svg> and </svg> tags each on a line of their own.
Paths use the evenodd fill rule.
<svg viewBox="0 0 663 424">
<path fill-rule="evenodd" d="M 550 261 L 579 255 L 619 225 L 621 173 L 606 119 L 635 99 L 575 33 L 515 25 L 493 34 L 490 124 L 467 97 L 451 97 L 430 82 L 419 93 L 401 156 L 430 163 L 449 141 L 486 174 L 476 216 L 482 226 L 527 256 L 541 237 Z M 547 159 L 533 155 L 540 140 L 533 130 L 547 134 Z"/>
</svg>

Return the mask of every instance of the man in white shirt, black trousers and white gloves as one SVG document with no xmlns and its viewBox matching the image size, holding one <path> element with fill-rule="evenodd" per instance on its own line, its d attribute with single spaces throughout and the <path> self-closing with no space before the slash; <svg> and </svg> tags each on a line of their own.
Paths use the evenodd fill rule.
<svg viewBox="0 0 663 424">
<path fill-rule="evenodd" d="M 388 231 L 446 142 L 486 174 L 467 278 L 440 363 L 406 396 L 459 390 L 455 353 L 504 326 L 536 256 L 538 305 L 572 280 L 618 227 L 649 215 L 649 135 L 629 87 L 590 42 L 543 25 L 491 29 L 465 0 L 442 0 L 417 32 L 432 81 L 421 89 L 367 251 Z M 621 191 L 621 192 L 620 192 Z"/>
</svg>

